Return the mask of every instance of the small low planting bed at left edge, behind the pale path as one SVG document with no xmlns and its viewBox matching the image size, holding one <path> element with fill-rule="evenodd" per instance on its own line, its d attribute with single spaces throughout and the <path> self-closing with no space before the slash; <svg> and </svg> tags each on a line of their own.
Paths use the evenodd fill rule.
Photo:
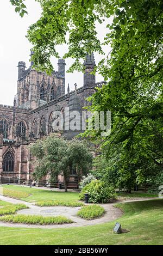
<svg viewBox="0 0 163 256">
<path fill-rule="evenodd" d="M 7 187 L 0 187 L 0 194 L 5 197 L 11 197 L 16 199 L 26 198 L 29 196 L 29 193 L 27 192 L 12 190 Z"/>
</svg>

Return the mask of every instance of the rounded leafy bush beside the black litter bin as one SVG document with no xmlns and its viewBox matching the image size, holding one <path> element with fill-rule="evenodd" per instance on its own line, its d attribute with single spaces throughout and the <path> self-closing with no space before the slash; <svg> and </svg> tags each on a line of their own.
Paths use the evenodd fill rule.
<svg viewBox="0 0 163 256">
<path fill-rule="evenodd" d="M 114 187 L 107 186 L 104 181 L 92 180 L 79 194 L 79 200 L 84 200 L 84 194 L 89 194 L 89 203 L 109 203 L 116 199 Z"/>
</svg>

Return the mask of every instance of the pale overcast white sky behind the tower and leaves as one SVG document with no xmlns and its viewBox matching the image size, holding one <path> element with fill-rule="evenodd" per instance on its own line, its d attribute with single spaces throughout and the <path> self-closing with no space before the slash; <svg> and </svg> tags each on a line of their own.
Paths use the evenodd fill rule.
<svg viewBox="0 0 163 256">
<path fill-rule="evenodd" d="M 0 40 L 0 104 L 13 105 L 14 95 L 17 90 L 17 64 L 20 60 L 26 62 L 29 68 L 29 54 L 32 45 L 26 38 L 29 25 L 37 21 L 41 14 L 39 3 L 34 0 L 26 0 L 28 15 L 21 18 L 15 13 L 14 7 L 9 0 L 1 0 L 0 3 L 0 24 L 1 24 L 1 40 Z M 105 22 L 105 25 L 107 22 Z M 106 33 L 105 25 L 98 26 L 99 36 L 104 37 Z M 67 51 L 67 47 L 59 46 L 60 56 L 63 56 Z M 104 47 L 103 50 L 108 53 L 110 48 Z M 95 54 L 96 63 L 101 59 L 101 56 Z M 58 60 L 52 60 L 54 70 L 58 70 Z M 66 60 L 66 69 L 68 69 L 72 60 Z M 96 75 L 96 81 L 103 81 L 101 75 Z M 74 83 L 78 87 L 83 86 L 83 74 L 74 72 L 74 74 L 66 74 L 66 91 L 67 84 L 70 83 L 70 90 L 74 89 Z"/>
</svg>

